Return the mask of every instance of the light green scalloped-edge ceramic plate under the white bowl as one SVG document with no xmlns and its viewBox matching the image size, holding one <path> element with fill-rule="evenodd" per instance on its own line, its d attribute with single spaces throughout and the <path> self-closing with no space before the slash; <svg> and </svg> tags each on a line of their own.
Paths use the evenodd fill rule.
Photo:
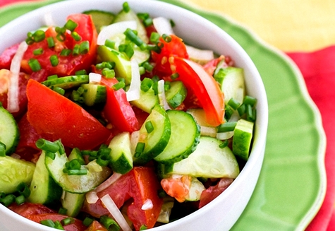
<svg viewBox="0 0 335 231">
<path fill-rule="evenodd" d="M 56 1 L 2 8 L 0 26 Z M 228 32 L 255 62 L 267 90 L 269 129 L 264 164 L 252 198 L 232 230 L 305 230 L 326 191 L 326 141 L 321 117 L 300 72 L 284 54 L 224 16 L 177 0 L 162 1 L 187 8 Z"/>
</svg>

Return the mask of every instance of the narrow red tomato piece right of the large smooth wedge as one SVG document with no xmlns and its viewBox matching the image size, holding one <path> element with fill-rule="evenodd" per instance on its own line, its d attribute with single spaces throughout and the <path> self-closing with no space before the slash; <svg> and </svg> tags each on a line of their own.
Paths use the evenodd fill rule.
<svg viewBox="0 0 335 231">
<path fill-rule="evenodd" d="M 140 126 L 135 112 L 127 101 L 126 92 L 123 89 L 114 90 L 112 87 L 118 83 L 116 78 L 102 78 L 101 83 L 107 87 L 106 105 L 104 117 L 120 131 L 138 131 Z"/>
</svg>

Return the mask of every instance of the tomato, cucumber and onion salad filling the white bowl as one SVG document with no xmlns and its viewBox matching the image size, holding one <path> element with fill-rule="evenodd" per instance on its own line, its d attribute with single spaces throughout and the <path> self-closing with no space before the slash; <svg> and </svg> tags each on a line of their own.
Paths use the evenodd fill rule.
<svg viewBox="0 0 335 231">
<path fill-rule="evenodd" d="M 146 230 L 215 199 L 248 161 L 257 99 L 173 20 L 85 11 L 0 55 L 0 203 L 59 230 Z"/>
</svg>

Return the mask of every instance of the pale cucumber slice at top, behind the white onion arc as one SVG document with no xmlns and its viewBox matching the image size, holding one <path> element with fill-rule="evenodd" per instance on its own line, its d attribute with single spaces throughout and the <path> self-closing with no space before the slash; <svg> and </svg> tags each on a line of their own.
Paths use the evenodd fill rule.
<svg viewBox="0 0 335 231">
<path fill-rule="evenodd" d="M 140 18 L 136 15 L 136 13 L 132 10 L 125 12 L 121 10 L 118 14 L 116 14 L 113 23 L 135 20 L 137 24 L 136 30 L 138 31 L 138 37 L 145 42 L 149 42 L 149 38 L 147 37 L 147 30 L 145 30 L 145 26 L 141 23 Z"/>
</svg>

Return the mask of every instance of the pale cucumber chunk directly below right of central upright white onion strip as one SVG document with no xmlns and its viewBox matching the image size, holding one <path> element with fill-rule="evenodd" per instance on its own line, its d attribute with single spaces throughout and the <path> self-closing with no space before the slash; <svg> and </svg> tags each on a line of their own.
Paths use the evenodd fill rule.
<svg viewBox="0 0 335 231">
<path fill-rule="evenodd" d="M 138 107 L 147 113 L 151 113 L 152 108 L 159 104 L 158 95 L 154 94 L 154 90 L 150 88 L 149 90 L 140 90 L 140 99 L 130 101 L 130 105 Z"/>
</svg>

